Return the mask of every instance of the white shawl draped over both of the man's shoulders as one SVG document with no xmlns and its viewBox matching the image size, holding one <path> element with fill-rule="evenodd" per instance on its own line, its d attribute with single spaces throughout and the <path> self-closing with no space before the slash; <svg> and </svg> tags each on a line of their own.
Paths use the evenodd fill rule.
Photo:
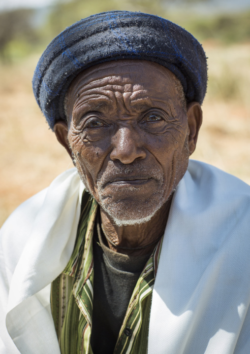
<svg viewBox="0 0 250 354">
<path fill-rule="evenodd" d="M 0 354 L 60 353 L 50 283 L 73 250 L 82 190 L 66 171 L 2 227 Z M 165 230 L 148 354 L 250 354 L 249 230 L 250 187 L 190 161 Z"/>
</svg>

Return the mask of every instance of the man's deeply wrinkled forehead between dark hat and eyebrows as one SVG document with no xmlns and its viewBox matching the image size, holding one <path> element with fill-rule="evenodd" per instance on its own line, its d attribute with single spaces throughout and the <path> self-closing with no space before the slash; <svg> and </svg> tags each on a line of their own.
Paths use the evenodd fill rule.
<svg viewBox="0 0 250 354">
<path fill-rule="evenodd" d="M 177 96 L 177 92 L 174 78 L 175 75 L 168 69 L 144 60 L 98 64 L 81 72 L 73 80 L 67 93 L 68 108 L 71 110 L 78 104 L 84 104 L 87 108 L 98 98 L 99 102 L 96 103 L 95 100 L 95 107 L 97 105 L 104 109 L 113 104 L 118 109 L 134 111 L 141 106 L 152 107 L 154 103 L 162 105 L 164 101 L 171 112 L 175 112 L 173 98 Z M 150 90 L 147 89 L 148 86 L 151 87 Z"/>
</svg>

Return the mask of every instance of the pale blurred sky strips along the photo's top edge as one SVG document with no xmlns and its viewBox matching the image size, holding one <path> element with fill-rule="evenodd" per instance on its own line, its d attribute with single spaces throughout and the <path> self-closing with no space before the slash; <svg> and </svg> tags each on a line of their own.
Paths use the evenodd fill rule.
<svg viewBox="0 0 250 354">
<path fill-rule="evenodd" d="M 12 9 L 18 7 L 45 7 L 53 4 L 56 0 L 0 0 L 0 10 L 2 9 Z M 104 0 L 105 1 L 105 0 Z M 122 0 L 121 0 L 122 1 Z M 170 3 L 175 6 L 178 0 L 173 0 Z M 185 1 L 184 1 L 185 2 Z M 203 4 L 202 4 L 203 2 Z M 207 6 L 207 9 L 210 11 L 211 9 L 223 9 L 228 11 L 233 10 L 241 10 L 244 8 L 250 8 L 250 0 L 211 0 L 210 4 L 205 4 L 204 1 L 198 2 L 198 8 L 196 4 L 196 8 L 204 10 L 204 7 Z"/>
</svg>

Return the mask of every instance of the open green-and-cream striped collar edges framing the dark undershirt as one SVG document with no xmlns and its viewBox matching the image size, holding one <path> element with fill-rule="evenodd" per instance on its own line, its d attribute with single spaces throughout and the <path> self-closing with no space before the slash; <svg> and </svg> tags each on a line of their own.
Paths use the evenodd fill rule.
<svg viewBox="0 0 250 354">
<path fill-rule="evenodd" d="M 63 274 L 74 278 L 72 292 L 76 303 L 82 315 L 84 316 L 84 321 L 81 321 L 83 328 L 80 330 L 80 333 L 83 333 L 82 353 L 91 354 L 92 349 L 90 346 L 90 338 L 92 327 L 94 283 L 93 233 L 98 204 L 93 198 L 90 197 L 88 193 L 85 192 L 82 199 L 82 205 L 84 207 L 82 208 L 80 216 L 75 248 L 67 266 L 63 271 Z M 148 322 L 151 296 L 158 268 L 162 239 L 156 245 L 156 248 L 152 252 L 152 255 L 150 256 L 141 273 L 141 276 L 136 283 L 119 333 L 114 354 L 139 354 L 147 352 Z M 142 334 L 142 318 L 145 311 L 148 317 L 146 320 L 147 333 L 144 331 Z M 127 335 L 127 330 L 129 330 L 129 336 Z M 139 350 L 137 348 L 137 342 L 139 337 L 142 335 L 146 337 L 145 340 L 143 340 L 146 348 L 142 348 L 140 344 L 139 347 L 141 350 Z M 134 352 L 133 348 L 137 348 L 136 352 Z"/>
</svg>

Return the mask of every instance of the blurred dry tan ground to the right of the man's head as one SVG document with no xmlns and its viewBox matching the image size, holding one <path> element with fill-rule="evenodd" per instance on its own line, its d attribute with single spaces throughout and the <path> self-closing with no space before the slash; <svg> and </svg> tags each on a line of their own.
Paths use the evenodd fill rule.
<svg viewBox="0 0 250 354">
<path fill-rule="evenodd" d="M 250 43 L 204 48 L 209 84 L 192 158 L 250 184 Z"/>
</svg>

